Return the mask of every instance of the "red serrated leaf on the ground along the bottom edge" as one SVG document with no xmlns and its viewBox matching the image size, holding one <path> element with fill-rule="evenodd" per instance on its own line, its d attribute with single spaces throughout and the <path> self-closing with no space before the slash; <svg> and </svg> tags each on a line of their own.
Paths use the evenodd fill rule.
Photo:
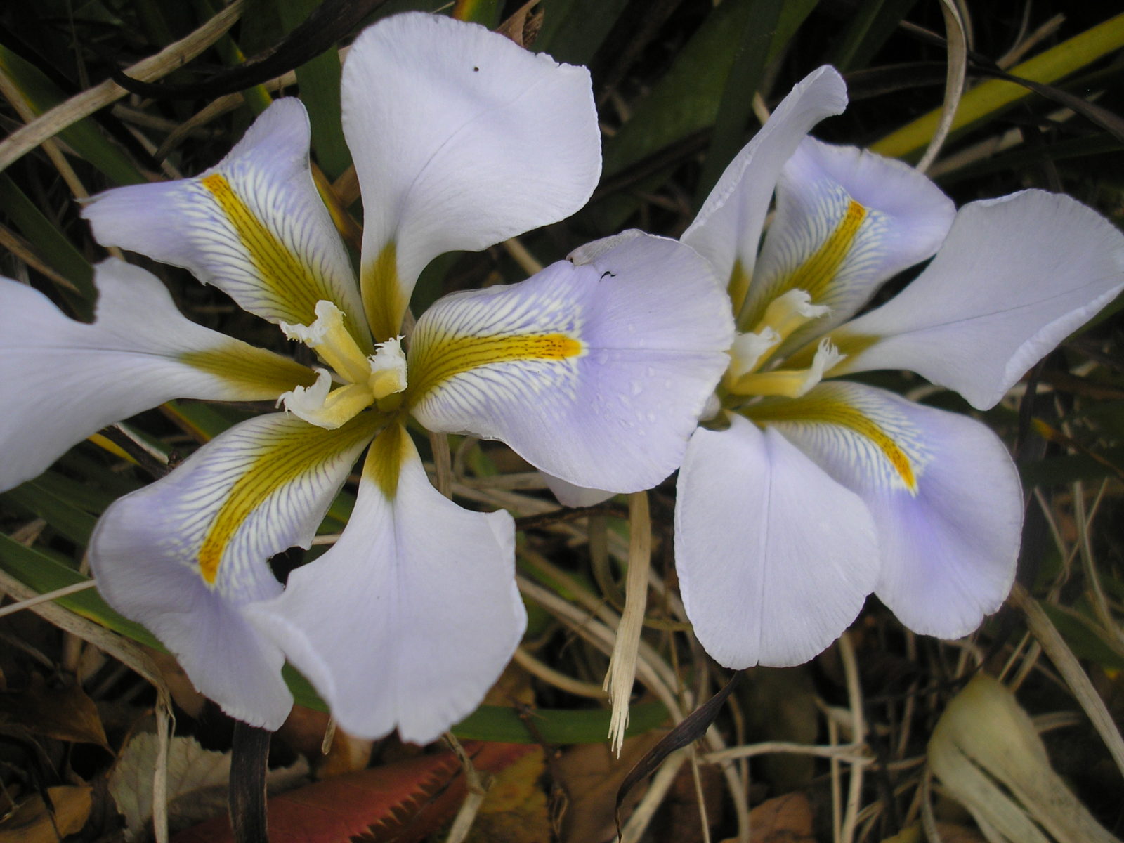
<svg viewBox="0 0 1124 843">
<path fill-rule="evenodd" d="M 477 769 L 498 772 L 535 747 L 466 743 Z M 464 798 L 452 752 L 336 776 L 269 800 L 271 843 L 416 843 L 447 823 Z M 173 843 L 233 843 L 216 817 L 180 832 Z"/>
</svg>

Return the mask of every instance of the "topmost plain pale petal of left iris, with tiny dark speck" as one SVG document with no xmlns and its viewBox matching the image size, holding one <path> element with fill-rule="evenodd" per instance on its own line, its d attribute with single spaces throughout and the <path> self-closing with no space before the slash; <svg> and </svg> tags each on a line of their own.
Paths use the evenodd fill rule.
<svg viewBox="0 0 1124 843">
<path fill-rule="evenodd" d="M 589 72 L 474 24 L 375 24 L 343 73 L 344 134 L 363 193 L 363 301 L 399 333 L 418 274 L 570 216 L 601 169 Z"/>
</svg>

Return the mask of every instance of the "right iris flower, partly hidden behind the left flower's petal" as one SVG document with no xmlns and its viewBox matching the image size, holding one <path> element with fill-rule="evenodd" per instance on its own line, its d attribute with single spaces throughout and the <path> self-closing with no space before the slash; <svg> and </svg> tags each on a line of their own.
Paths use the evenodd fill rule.
<svg viewBox="0 0 1124 843">
<path fill-rule="evenodd" d="M 1026 190 L 958 211 L 900 162 L 806 137 L 845 105 L 831 67 L 798 84 L 682 237 L 728 279 L 738 332 L 676 507 L 688 616 L 731 668 L 810 659 L 871 592 L 945 638 L 995 611 L 1023 513 L 1003 443 L 839 378 L 912 370 L 986 409 L 1124 284 L 1124 237 L 1068 197 Z"/>
</svg>

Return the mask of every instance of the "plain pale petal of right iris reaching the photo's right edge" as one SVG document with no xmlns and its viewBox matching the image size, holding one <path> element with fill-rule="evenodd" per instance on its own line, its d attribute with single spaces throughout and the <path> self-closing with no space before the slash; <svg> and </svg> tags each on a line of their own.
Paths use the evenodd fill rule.
<svg viewBox="0 0 1124 843">
<path fill-rule="evenodd" d="M 835 373 L 912 369 L 986 409 L 1122 289 L 1124 235 L 1080 202 L 971 202 L 913 283 L 832 334 Z"/>
</svg>

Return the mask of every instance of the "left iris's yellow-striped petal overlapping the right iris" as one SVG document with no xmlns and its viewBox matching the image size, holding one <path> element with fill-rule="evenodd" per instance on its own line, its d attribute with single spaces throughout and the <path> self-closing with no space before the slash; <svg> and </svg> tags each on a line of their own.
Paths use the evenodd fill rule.
<svg viewBox="0 0 1124 843">
<path fill-rule="evenodd" d="M 728 301 L 674 241 L 617 236 L 575 260 L 436 302 L 407 400 L 428 429 L 500 439 L 569 483 L 647 489 L 679 466 L 729 362 Z"/>
</svg>

